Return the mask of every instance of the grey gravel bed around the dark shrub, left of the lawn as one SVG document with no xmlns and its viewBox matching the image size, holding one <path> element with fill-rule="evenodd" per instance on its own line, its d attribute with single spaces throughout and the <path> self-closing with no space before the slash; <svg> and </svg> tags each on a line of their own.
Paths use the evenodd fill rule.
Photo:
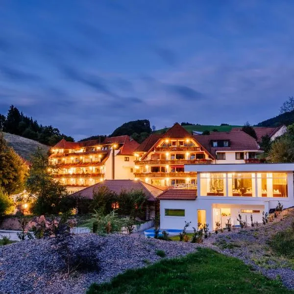
<svg viewBox="0 0 294 294">
<path fill-rule="evenodd" d="M 161 258 L 156 250 L 164 250 L 167 258 L 193 252 L 192 243 L 166 242 L 144 236 L 95 234 L 73 236 L 73 244 L 87 252 L 94 243 L 99 250 L 100 271 L 73 273 L 69 278 L 64 263 L 54 251 L 53 240 L 27 240 L 0 246 L 0 294 L 79 294 L 93 282 L 109 281 L 127 269 L 144 267 Z"/>
</svg>

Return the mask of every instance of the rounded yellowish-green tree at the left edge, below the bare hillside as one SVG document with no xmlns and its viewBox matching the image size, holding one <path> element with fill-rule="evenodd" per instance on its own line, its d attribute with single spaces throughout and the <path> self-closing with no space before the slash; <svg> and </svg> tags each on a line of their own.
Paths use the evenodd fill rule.
<svg viewBox="0 0 294 294">
<path fill-rule="evenodd" d="M 27 167 L 23 159 L 7 146 L 4 135 L 0 132 L 0 186 L 9 195 L 25 189 Z"/>
</svg>

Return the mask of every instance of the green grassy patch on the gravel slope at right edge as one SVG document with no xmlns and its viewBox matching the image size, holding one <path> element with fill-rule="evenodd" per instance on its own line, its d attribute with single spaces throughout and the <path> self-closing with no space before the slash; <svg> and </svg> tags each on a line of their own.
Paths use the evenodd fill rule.
<svg viewBox="0 0 294 294">
<path fill-rule="evenodd" d="M 288 228 L 276 233 L 269 242 L 271 249 L 280 256 L 294 259 L 294 230 Z"/>
</svg>

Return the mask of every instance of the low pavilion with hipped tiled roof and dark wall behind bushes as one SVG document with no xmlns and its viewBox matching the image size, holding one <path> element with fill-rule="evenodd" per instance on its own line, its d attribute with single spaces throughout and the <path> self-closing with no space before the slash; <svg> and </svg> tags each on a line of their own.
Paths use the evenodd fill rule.
<svg viewBox="0 0 294 294">
<path fill-rule="evenodd" d="M 111 192 L 119 195 L 121 192 L 131 192 L 134 190 L 142 190 L 147 197 L 146 208 L 146 220 L 154 220 L 155 209 L 159 207 L 159 201 L 157 196 L 162 193 L 161 189 L 151 186 L 147 183 L 135 180 L 104 180 L 103 182 L 87 187 L 73 194 L 73 196 L 79 196 L 84 199 L 93 199 L 94 194 L 98 190 L 99 186 L 107 187 Z M 113 203 L 114 206 L 116 205 Z M 118 208 L 118 207 L 116 207 Z"/>
</svg>

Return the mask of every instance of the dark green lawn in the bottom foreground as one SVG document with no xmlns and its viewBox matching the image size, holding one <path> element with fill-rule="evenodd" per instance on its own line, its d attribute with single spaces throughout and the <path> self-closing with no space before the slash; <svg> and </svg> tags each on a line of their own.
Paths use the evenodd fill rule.
<svg viewBox="0 0 294 294">
<path fill-rule="evenodd" d="M 279 280 L 270 280 L 242 261 L 211 249 L 198 248 L 182 258 L 163 259 L 138 270 L 127 270 L 110 283 L 93 284 L 87 294 L 284 294 Z"/>
</svg>

